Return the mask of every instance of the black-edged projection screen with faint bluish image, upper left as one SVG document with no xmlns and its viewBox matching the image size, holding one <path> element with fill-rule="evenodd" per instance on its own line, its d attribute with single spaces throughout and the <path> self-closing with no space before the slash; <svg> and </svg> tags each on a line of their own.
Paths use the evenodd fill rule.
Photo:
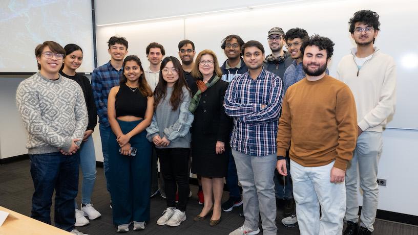
<svg viewBox="0 0 418 235">
<path fill-rule="evenodd" d="M 0 73 L 37 71 L 35 48 L 44 41 L 83 50 L 77 72 L 92 72 L 92 5 L 86 0 L 2 0 L 0 3 Z"/>
</svg>

